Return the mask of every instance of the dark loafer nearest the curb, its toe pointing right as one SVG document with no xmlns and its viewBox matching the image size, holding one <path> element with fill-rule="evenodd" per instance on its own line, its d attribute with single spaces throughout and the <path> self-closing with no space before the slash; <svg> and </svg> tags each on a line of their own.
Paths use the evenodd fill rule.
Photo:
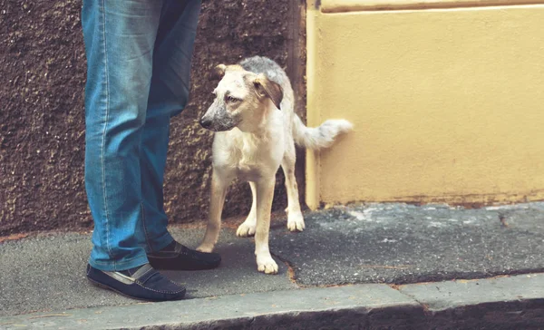
<svg viewBox="0 0 544 330">
<path fill-rule="evenodd" d="M 122 272 L 108 272 L 87 265 L 87 278 L 95 286 L 146 301 L 179 300 L 186 291 L 185 287 L 170 281 L 150 264 Z"/>
</svg>

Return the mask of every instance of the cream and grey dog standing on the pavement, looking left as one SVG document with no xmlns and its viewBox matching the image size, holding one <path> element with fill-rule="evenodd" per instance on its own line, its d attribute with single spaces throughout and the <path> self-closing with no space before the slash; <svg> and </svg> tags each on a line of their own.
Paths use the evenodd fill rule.
<svg viewBox="0 0 544 330">
<path fill-rule="evenodd" d="M 253 202 L 238 237 L 255 235 L 257 270 L 277 274 L 268 249 L 268 231 L 276 173 L 284 170 L 287 187 L 287 228 L 302 231 L 304 218 L 295 179 L 295 145 L 311 150 L 330 147 L 335 137 L 352 130 L 345 120 L 328 120 L 308 128 L 294 112 L 295 97 L 287 73 L 267 57 L 215 67 L 219 79 L 215 100 L 200 118 L 214 131 L 209 222 L 199 248 L 211 252 L 219 238 L 221 212 L 228 185 L 247 180 Z"/>
</svg>

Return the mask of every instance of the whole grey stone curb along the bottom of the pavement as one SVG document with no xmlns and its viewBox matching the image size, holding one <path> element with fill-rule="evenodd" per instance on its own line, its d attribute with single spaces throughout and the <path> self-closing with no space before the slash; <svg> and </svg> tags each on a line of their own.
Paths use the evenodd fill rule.
<svg viewBox="0 0 544 330">
<path fill-rule="evenodd" d="M 0 329 L 542 329 L 544 273 L 315 287 L 0 318 Z"/>
</svg>

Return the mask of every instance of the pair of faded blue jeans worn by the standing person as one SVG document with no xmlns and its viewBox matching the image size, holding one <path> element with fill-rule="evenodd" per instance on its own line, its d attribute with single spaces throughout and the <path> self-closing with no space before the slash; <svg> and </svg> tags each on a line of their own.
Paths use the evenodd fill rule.
<svg viewBox="0 0 544 330">
<path fill-rule="evenodd" d="M 170 117 L 188 102 L 199 11 L 200 0 L 83 1 L 92 267 L 138 267 L 173 240 L 162 183 Z"/>
</svg>

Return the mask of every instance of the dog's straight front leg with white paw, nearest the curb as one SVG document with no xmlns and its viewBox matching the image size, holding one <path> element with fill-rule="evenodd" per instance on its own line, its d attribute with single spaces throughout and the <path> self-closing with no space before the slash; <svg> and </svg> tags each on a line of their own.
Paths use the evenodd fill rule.
<svg viewBox="0 0 544 330">
<path fill-rule="evenodd" d="M 268 249 L 268 233 L 270 230 L 270 212 L 274 199 L 276 177 L 264 178 L 257 183 L 257 228 L 255 232 L 255 255 L 257 269 L 266 274 L 277 274 L 277 263 Z"/>
</svg>

